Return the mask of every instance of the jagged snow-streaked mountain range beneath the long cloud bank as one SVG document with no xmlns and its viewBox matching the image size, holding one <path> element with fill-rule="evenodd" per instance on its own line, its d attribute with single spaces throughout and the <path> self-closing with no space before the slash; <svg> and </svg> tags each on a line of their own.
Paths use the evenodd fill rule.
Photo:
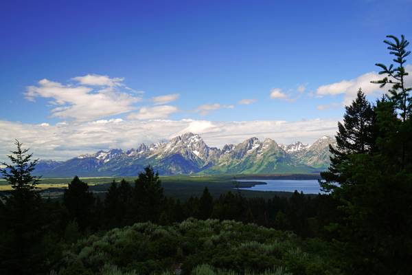
<svg viewBox="0 0 412 275">
<path fill-rule="evenodd" d="M 185 133 L 169 142 L 141 144 L 128 151 L 98 151 L 65 162 L 42 160 L 34 173 L 43 177 L 134 176 L 148 164 L 161 175 L 317 173 L 329 165 L 329 144 L 334 146 L 334 139 L 328 136 L 311 145 L 251 137 L 216 148 L 207 146 L 200 135 Z"/>
</svg>

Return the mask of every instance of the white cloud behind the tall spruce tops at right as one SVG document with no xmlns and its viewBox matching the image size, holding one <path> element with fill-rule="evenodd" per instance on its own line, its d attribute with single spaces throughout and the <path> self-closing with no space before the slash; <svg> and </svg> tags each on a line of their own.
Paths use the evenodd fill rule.
<svg viewBox="0 0 412 275">
<path fill-rule="evenodd" d="M 412 74 L 412 65 L 406 66 L 407 72 Z M 379 75 L 376 72 L 369 72 L 353 78 L 350 80 L 341 80 L 336 83 L 331 83 L 328 85 L 323 85 L 317 88 L 317 96 L 336 96 L 339 94 L 344 95 L 343 104 L 348 105 L 356 98 L 356 94 L 359 88 L 362 88 L 362 91 L 367 95 L 378 95 L 382 93 L 387 93 L 390 88 L 387 85 L 384 88 L 380 88 L 379 85 L 371 83 L 371 81 L 376 81 L 384 78 L 384 76 Z M 412 78 L 407 78 L 407 87 L 412 86 Z"/>
</svg>

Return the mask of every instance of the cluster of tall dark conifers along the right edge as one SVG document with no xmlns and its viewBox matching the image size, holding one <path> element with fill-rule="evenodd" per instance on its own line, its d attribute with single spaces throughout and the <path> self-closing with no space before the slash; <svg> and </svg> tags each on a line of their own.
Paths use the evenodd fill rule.
<svg viewBox="0 0 412 275">
<path fill-rule="evenodd" d="M 358 130 L 359 124 L 343 123 L 332 164 L 321 174 L 321 186 L 332 190 L 338 203 L 336 217 L 341 219 L 334 224 L 335 236 L 348 274 L 412 274 L 412 127 L 403 66 L 409 52 L 404 50 L 408 43 L 403 36 L 389 37 L 395 43 L 385 43 L 399 67 L 379 65 L 388 78 L 378 83 L 392 87 L 391 95 L 378 100 L 373 109 L 371 150 L 369 146 L 363 150 L 361 139 L 348 135 L 350 127 Z M 353 116 L 349 111 L 344 122 L 347 115 Z"/>
</svg>

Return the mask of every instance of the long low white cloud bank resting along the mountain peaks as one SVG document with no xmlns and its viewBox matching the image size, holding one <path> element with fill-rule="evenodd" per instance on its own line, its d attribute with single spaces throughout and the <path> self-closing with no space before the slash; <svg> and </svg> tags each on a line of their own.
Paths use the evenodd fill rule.
<svg viewBox="0 0 412 275">
<path fill-rule="evenodd" d="M 69 159 L 83 153 L 107 148 L 136 148 L 170 139 L 175 135 L 194 132 L 209 146 L 237 144 L 249 137 L 270 137 L 279 143 L 300 140 L 311 143 L 323 135 L 334 135 L 336 120 L 239 121 L 211 122 L 208 120 L 95 120 L 93 122 L 60 122 L 42 126 L 0 120 L 0 160 L 13 148 L 14 139 L 31 148 L 34 157 Z"/>
</svg>

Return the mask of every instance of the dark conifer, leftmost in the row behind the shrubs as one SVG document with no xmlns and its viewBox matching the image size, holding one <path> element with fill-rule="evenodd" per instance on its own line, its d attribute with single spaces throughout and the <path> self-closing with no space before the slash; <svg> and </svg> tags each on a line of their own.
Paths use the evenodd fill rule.
<svg viewBox="0 0 412 275">
<path fill-rule="evenodd" d="M 65 190 L 63 204 L 69 213 L 69 219 L 75 219 L 80 230 L 85 230 L 91 223 L 94 201 L 89 185 L 75 176 Z"/>
</svg>

